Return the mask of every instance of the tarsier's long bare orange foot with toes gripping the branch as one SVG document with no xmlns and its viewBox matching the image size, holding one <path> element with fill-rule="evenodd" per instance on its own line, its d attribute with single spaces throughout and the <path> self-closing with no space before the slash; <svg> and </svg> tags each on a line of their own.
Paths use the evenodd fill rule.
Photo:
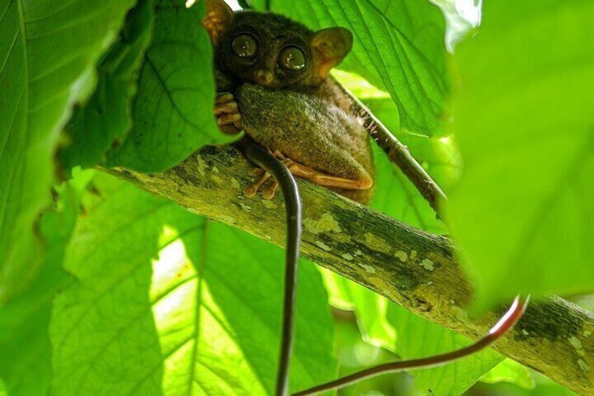
<svg viewBox="0 0 594 396">
<path fill-rule="evenodd" d="M 279 158 L 281 162 L 289 169 L 292 175 L 308 179 L 310 182 L 318 184 L 319 186 L 334 187 L 336 189 L 347 189 L 347 190 L 366 190 L 371 188 L 373 180 L 371 178 L 366 179 L 345 179 L 344 177 L 327 175 L 326 173 L 318 172 L 317 170 L 310 168 L 301 163 L 296 163 L 291 158 L 286 158 L 280 151 L 272 153 L 276 158 Z M 258 172 L 256 173 L 256 170 Z M 244 189 L 244 194 L 248 197 L 253 197 L 258 192 L 258 189 L 270 179 L 270 174 L 264 172 L 261 168 L 256 168 L 252 171 L 254 175 L 263 175 L 258 181 L 251 186 Z M 262 196 L 266 199 L 272 199 L 278 189 L 278 183 L 272 180 L 270 186 L 262 192 Z"/>
</svg>

